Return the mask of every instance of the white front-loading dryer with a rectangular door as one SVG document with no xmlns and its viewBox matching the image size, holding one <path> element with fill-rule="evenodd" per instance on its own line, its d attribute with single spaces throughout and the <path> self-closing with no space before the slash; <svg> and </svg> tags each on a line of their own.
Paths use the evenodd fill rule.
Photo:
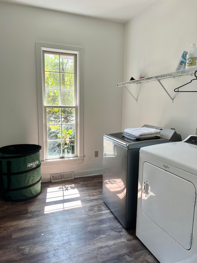
<svg viewBox="0 0 197 263">
<path fill-rule="evenodd" d="M 143 147 L 136 236 L 161 263 L 197 262 L 197 136 Z"/>
</svg>

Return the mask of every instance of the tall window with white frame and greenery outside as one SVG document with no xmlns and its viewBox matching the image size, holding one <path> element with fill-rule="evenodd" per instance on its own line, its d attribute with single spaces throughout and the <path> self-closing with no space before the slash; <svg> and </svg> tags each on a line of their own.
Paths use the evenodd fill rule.
<svg viewBox="0 0 197 263">
<path fill-rule="evenodd" d="M 41 160 L 82 162 L 82 49 L 36 47 Z"/>
</svg>

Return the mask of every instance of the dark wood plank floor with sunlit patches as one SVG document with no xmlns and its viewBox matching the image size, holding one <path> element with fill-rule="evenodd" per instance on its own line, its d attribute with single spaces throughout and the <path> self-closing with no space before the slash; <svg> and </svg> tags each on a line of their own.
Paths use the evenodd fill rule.
<svg viewBox="0 0 197 263">
<path fill-rule="evenodd" d="M 158 263 L 102 200 L 102 175 L 42 183 L 29 201 L 0 199 L 0 262 Z"/>
</svg>

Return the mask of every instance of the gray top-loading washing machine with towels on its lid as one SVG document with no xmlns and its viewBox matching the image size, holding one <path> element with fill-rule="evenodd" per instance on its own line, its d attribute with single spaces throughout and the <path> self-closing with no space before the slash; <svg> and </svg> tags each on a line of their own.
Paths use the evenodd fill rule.
<svg viewBox="0 0 197 263">
<path fill-rule="evenodd" d="M 135 228 L 138 194 L 139 149 L 181 141 L 174 129 L 143 125 L 161 131 L 160 137 L 131 140 L 121 133 L 103 137 L 103 201 L 124 228 Z"/>
</svg>

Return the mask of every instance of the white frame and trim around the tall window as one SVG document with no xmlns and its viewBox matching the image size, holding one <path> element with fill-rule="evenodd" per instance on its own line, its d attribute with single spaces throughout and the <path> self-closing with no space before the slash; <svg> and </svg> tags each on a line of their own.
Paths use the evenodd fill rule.
<svg viewBox="0 0 197 263">
<path fill-rule="evenodd" d="M 43 51 L 52 51 L 52 52 L 63 52 L 76 54 L 77 60 L 77 107 L 78 114 L 76 125 L 78 129 L 77 133 L 77 157 L 68 157 L 60 159 L 47 159 L 45 154 L 45 140 L 46 135 L 44 134 L 44 105 L 43 105 Z M 40 150 L 40 158 L 43 165 L 54 165 L 62 163 L 82 163 L 83 162 L 83 49 L 81 47 L 69 47 L 69 46 L 60 46 L 48 43 L 36 43 L 36 65 L 37 65 L 37 89 L 38 89 L 38 129 L 39 129 L 39 145 L 42 146 Z"/>
</svg>

